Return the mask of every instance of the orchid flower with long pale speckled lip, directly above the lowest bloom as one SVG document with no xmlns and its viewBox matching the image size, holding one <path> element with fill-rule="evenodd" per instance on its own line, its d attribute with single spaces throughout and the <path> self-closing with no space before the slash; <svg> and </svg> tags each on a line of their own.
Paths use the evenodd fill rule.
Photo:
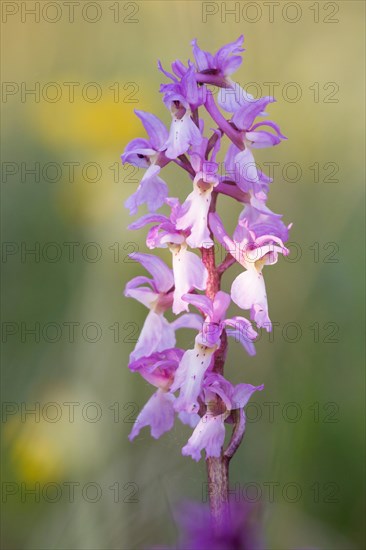
<svg viewBox="0 0 366 550">
<path fill-rule="evenodd" d="M 255 354 L 252 340 L 257 336 L 250 321 L 244 317 L 224 319 L 230 305 L 230 296 L 219 291 L 215 300 L 207 296 L 187 294 L 183 300 L 194 305 L 205 316 L 201 331 L 196 336 L 194 349 L 188 350 L 182 357 L 177 369 L 171 391 L 180 390 L 175 402 L 177 411 L 197 412 L 199 410 L 198 396 L 202 391 L 202 382 L 209 369 L 213 354 L 220 345 L 220 337 L 225 326 L 234 327 L 227 331 L 228 336 L 239 341 L 249 355 Z"/>
</svg>

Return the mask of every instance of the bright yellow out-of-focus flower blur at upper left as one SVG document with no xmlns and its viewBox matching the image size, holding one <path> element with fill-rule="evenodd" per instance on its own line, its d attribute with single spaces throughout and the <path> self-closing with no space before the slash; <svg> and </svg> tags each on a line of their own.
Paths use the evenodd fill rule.
<svg viewBox="0 0 366 550">
<path fill-rule="evenodd" d="M 72 78 L 57 80 L 71 82 Z M 96 90 L 101 96 L 95 102 L 90 99 L 98 96 L 91 92 L 87 95 L 76 88 L 72 96 L 69 88 L 59 85 L 62 93 L 58 101 L 30 103 L 33 129 L 39 132 L 43 142 L 57 151 L 72 149 L 76 155 L 79 150 L 121 153 L 128 141 L 144 135 L 134 109 L 149 110 L 151 105 L 143 104 L 141 84 L 128 83 L 129 87 L 121 85 L 121 89 L 117 89 L 116 84 L 98 83 Z M 148 91 L 146 86 L 143 90 Z"/>
</svg>

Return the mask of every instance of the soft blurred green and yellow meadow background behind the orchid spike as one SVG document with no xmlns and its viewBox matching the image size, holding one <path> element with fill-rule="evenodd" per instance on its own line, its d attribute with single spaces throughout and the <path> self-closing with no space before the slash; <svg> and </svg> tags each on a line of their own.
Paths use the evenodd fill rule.
<svg viewBox="0 0 366 550">
<path fill-rule="evenodd" d="M 146 316 L 123 297 L 142 274 L 127 254 L 146 248 L 123 206 L 141 174 L 120 154 L 144 137 L 134 108 L 170 123 L 158 59 L 243 33 L 235 80 L 274 86 L 289 139 L 256 158 L 294 226 L 289 258 L 265 270 L 273 335 L 255 358 L 230 347 L 231 380 L 265 384 L 233 498 L 256 503 L 266 548 L 364 548 L 364 3 L 71 4 L 1 5 L 2 547 L 172 545 L 177 504 L 206 499 L 204 461 L 180 453 L 189 428 L 127 439 L 152 389 L 127 368 Z M 164 179 L 185 198 L 184 174 Z M 232 228 L 238 205 L 219 212 Z"/>
</svg>

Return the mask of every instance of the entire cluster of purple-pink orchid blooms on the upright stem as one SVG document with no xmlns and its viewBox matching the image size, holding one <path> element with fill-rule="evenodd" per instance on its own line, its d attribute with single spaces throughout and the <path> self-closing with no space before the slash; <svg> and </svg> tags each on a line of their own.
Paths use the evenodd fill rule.
<svg viewBox="0 0 366 550">
<path fill-rule="evenodd" d="M 132 140 L 122 155 L 124 163 L 146 169 L 126 207 L 133 215 L 145 204 L 148 213 L 129 228 L 150 225 L 147 247 L 168 248 L 172 256 L 169 267 L 155 255 L 131 255 L 151 278 L 135 277 L 125 289 L 127 297 L 149 310 L 129 368 L 157 390 L 140 412 L 130 439 L 144 426 L 150 426 L 153 437 L 160 437 L 173 427 L 177 415 L 194 428 L 182 453 L 195 460 L 202 450 L 206 457 L 221 455 L 225 422 L 234 423 L 240 417 L 245 423 L 243 407 L 253 392 L 263 389 L 234 386 L 224 377 L 227 337 L 240 342 L 249 355 L 255 354 L 255 326 L 272 329 L 262 269 L 276 263 L 279 254 L 288 253 L 284 243 L 290 226 L 268 208 L 271 179 L 253 156 L 254 149 L 273 147 L 286 138 L 266 118 L 274 98 L 254 99 L 231 79 L 242 62 L 242 45 L 241 36 L 211 55 L 193 41 L 193 62 L 185 65 L 177 60 L 172 72 L 159 63 L 169 81 L 160 91 L 171 113 L 170 127 L 153 114 L 136 111 L 148 137 Z M 207 136 L 202 111 L 211 119 Z M 221 146 L 227 140 L 223 156 Z M 182 171 L 182 193 L 187 195 L 191 182 L 191 192 L 182 203 L 169 197 L 161 178 L 169 163 Z M 232 236 L 216 212 L 220 194 L 241 205 Z M 157 213 L 161 207 L 164 214 Z M 214 239 L 226 250 L 219 266 Z M 220 290 L 220 278 L 235 262 L 244 270 L 228 294 Z M 227 317 L 232 302 L 247 310 L 249 319 Z M 177 316 L 173 322 L 165 317 L 168 310 Z M 196 331 L 192 349 L 176 347 L 176 331 L 181 328 Z"/>
</svg>

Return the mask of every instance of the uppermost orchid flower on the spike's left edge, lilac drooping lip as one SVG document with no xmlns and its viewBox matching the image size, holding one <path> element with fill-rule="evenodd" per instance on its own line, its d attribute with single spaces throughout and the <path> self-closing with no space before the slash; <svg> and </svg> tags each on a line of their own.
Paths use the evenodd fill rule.
<svg viewBox="0 0 366 550">
<path fill-rule="evenodd" d="M 149 139 L 132 140 L 122 155 L 123 163 L 147 168 L 137 191 L 125 203 L 131 215 L 136 214 L 138 207 L 144 203 L 147 203 L 149 212 L 155 212 L 168 196 L 167 185 L 158 175 L 161 167 L 167 164 L 161 151 L 168 138 L 168 131 L 155 115 L 138 110 L 135 113 L 144 125 Z"/>
</svg>

